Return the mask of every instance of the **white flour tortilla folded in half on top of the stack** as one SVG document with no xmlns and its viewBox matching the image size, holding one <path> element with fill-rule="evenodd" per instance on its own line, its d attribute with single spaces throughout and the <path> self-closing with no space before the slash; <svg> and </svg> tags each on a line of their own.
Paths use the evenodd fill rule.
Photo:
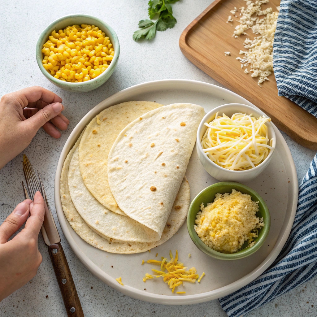
<svg viewBox="0 0 317 317">
<path fill-rule="evenodd" d="M 171 104 L 123 129 L 108 155 L 108 182 L 120 209 L 161 237 L 183 181 L 204 108 Z"/>
</svg>

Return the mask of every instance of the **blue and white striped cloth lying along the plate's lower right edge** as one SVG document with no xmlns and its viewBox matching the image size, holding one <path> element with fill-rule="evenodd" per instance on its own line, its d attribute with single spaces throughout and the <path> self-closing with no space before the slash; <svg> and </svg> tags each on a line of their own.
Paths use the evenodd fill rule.
<svg viewBox="0 0 317 317">
<path fill-rule="evenodd" d="M 291 233 L 275 262 L 255 281 L 219 299 L 229 317 L 243 316 L 317 274 L 317 154 L 301 185 Z"/>
</svg>

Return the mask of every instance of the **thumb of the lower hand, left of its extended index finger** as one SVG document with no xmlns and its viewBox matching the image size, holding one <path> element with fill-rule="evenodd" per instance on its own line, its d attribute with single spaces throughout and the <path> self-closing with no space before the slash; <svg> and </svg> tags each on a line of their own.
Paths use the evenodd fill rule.
<svg viewBox="0 0 317 317">
<path fill-rule="evenodd" d="M 0 226 L 0 244 L 6 243 L 10 236 L 18 230 L 29 215 L 30 203 L 32 200 L 26 199 L 16 206 L 16 209 L 4 220 Z"/>
</svg>

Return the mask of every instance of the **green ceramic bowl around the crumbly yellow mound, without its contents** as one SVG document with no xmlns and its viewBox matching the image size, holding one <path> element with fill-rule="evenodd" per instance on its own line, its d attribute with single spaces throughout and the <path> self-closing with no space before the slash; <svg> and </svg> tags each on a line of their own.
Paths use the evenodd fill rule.
<svg viewBox="0 0 317 317">
<path fill-rule="evenodd" d="M 240 191 L 243 194 L 249 194 L 251 195 L 251 199 L 253 201 L 259 202 L 259 211 L 256 213 L 256 216 L 260 218 L 263 217 L 264 226 L 259 229 L 258 237 L 254 239 L 256 243 L 252 247 L 247 248 L 247 243 L 244 243 L 241 250 L 237 251 L 236 253 L 226 254 L 215 251 L 214 249 L 211 249 L 206 244 L 204 244 L 197 236 L 197 233 L 194 230 L 194 224 L 196 220 L 196 215 L 200 211 L 201 203 L 204 203 L 204 205 L 206 206 L 208 203 L 212 203 L 214 201 L 217 193 L 231 193 L 233 189 L 235 189 L 236 191 Z M 268 232 L 270 230 L 270 224 L 271 217 L 268 211 L 268 206 L 266 205 L 262 197 L 250 187 L 236 182 L 220 182 L 210 185 L 209 187 L 202 190 L 191 202 L 187 215 L 187 229 L 189 235 L 191 236 L 191 240 L 193 240 L 198 249 L 200 249 L 207 255 L 219 260 L 242 259 L 256 252 L 258 249 L 261 248 L 262 244 L 267 238 Z"/>
</svg>

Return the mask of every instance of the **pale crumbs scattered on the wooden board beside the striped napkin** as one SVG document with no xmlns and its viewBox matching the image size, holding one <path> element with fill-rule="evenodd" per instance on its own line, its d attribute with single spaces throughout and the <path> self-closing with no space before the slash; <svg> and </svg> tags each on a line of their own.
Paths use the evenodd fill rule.
<svg viewBox="0 0 317 317">
<path fill-rule="evenodd" d="M 256 36 L 253 40 L 246 38 L 243 46 L 245 51 L 240 51 L 243 58 L 236 59 L 241 62 L 244 67 L 250 66 L 252 72 L 251 77 L 259 77 L 258 85 L 265 80 L 269 80 L 268 76 L 273 72 L 273 41 L 276 29 L 278 12 L 272 12 L 272 8 L 262 10 L 262 4 L 268 3 L 268 0 L 244 0 L 247 7 L 241 7 L 240 23 L 235 27 L 234 37 L 247 35 L 246 31 L 251 29 Z M 232 11 L 230 11 L 232 12 Z M 259 18 L 259 16 L 264 16 Z M 241 68 L 243 68 L 243 66 Z"/>
</svg>

